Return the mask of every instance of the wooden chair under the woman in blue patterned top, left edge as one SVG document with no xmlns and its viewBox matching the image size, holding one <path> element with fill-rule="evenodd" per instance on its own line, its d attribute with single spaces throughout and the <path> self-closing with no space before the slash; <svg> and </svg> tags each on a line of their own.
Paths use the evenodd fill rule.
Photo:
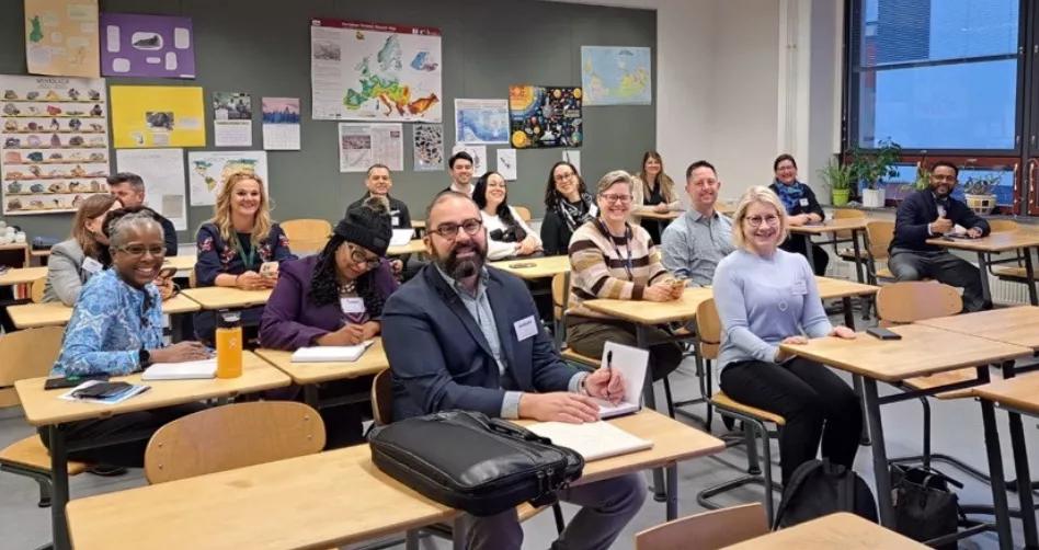
<svg viewBox="0 0 1039 550">
<path fill-rule="evenodd" d="M 47 376 L 61 350 L 64 326 L 44 326 L 9 332 L 0 336 L 0 406 L 19 404 L 14 382 Z M 83 462 L 69 461 L 69 475 L 87 470 Z M 32 478 L 39 485 L 39 507 L 50 505 L 50 455 L 38 435 L 14 442 L 0 450 L 0 471 Z"/>
</svg>

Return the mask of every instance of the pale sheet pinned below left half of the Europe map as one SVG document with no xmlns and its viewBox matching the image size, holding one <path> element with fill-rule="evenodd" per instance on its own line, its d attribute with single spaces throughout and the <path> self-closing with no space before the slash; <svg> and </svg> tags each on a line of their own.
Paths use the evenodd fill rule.
<svg viewBox="0 0 1039 550">
<path fill-rule="evenodd" d="M 404 169 L 404 128 L 400 123 L 340 123 L 339 171 L 367 172 L 372 164 Z"/>
</svg>

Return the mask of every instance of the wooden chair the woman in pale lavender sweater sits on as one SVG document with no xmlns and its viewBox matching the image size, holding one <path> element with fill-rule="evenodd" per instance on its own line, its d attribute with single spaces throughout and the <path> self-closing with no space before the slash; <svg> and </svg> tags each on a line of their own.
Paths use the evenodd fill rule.
<svg viewBox="0 0 1039 550">
<path fill-rule="evenodd" d="M 706 300 L 696 308 L 696 329 L 700 337 L 698 340 L 697 353 L 701 354 L 708 362 L 707 371 L 710 373 L 710 362 L 718 359 L 718 352 L 721 346 L 721 319 L 718 317 L 718 310 L 715 308 L 715 300 Z M 712 389 L 708 378 L 708 387 L 705 396 Z M 772 522 L 773 511 L 775 509 L 773 491 L 781 492 L 779 483 L 772 480 L 772 448 L 769 445 L 770 432 L 766 424 L 776 426 L 776 433 L 783 429 L 786 419 L 783 416 L 756 409 L 735 401 L 722 391 L 711 394 L 711 405 L 722 416 L 739 420 L 743 423 L 743 437 L 741 439 L 728 439 L 727 447 L 746 443 L 747 474 L 740 478 L 726 481 L 723 483 L 707 488 L 696 495 L 696 502 L 708 509 L 717 509 L 720 506 L 710 501 L 711 497 L 731 491 L 735 488 L 760 484 L 765 488 L 765 517 Z M 762 440 L 763 467 L 757 462 L 757 438 Z"/>
</svg>

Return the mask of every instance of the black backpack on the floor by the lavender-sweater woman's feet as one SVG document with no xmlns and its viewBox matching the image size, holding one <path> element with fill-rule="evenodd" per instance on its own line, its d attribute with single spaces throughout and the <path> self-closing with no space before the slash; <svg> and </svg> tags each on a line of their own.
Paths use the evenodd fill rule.
<svg viewBox="0 0 1039 550">
<path fill-rule="evenodd" d="M 835 512 L 850 512 L 877 523 L 874 492 L 863 478 L 841 465 L 809 460 L 793 470 L 783 488 L 773 527 L 790 527 Z"/>
</svg>

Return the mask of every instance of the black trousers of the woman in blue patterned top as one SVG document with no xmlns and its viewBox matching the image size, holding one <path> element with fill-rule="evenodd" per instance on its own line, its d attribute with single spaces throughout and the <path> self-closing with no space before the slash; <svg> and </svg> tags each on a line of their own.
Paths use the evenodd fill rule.
<svg viewBox="0 0 1039 550">
<path fill-rule="evenodd" d="M 145 448 L 148 439 L 163 425 L 206 408 L 203 403 L 186 403 L 152 411 L 139 411 L 117 414 L 105 420 L 84 420 L 71 422 L 64 428 L 65 444 L 69 447 L 90 442 L 104 442 L 114 437 L 139 434 L 140 439 L 115 445 L 105 445 L 68 454 L 70 460 L 92 465 L 123 466 L 141 468 L 145 466 Z M 47 428 L 39 428 L 39 438 L 48 449 L 50 438 Z"/>
</svg>

